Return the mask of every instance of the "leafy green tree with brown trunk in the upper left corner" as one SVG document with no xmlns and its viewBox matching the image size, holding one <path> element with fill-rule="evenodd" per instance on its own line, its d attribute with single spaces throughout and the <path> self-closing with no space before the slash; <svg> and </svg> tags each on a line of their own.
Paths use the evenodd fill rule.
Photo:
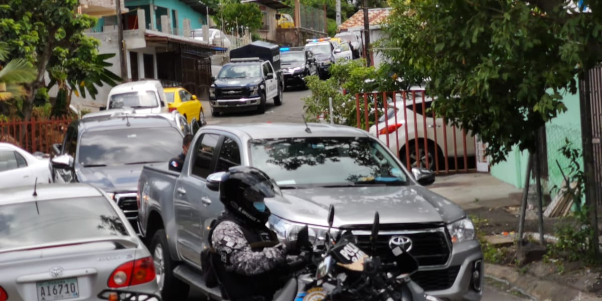
<svg viewBox="0 0 602 301">
<path fill-rule="evenodd" d="M 76 14 L 78 0 L 0 0 L 0 36 L 10 48 L 9 57 L 22 57 L 36 68 L 36 78 L 26 84 L 27 95 L 23 98 L 23 117 L 31 118 L 33 99 L 40 88 L 45 87 L 46 71 L 55 69 L 65 60 L 70 65 L 98 61 L 98 40 L 85 36 L 84 30 L 92 28 L 96 19 Z M 74 56 L 72 56 L 75 54 Z M 68 69 L 69 82 L 81 79 L 81 74 L 95 71 L 82 64 L 72 72 Z M 101 78 L 101 81 L 104 79 Z M 109 82 L 110 83 L 110 82 Z M 88 90 L 90 85 L 78 85 Z M 94 97 L 95 89 L 88 90 Z"/>
</svg>

